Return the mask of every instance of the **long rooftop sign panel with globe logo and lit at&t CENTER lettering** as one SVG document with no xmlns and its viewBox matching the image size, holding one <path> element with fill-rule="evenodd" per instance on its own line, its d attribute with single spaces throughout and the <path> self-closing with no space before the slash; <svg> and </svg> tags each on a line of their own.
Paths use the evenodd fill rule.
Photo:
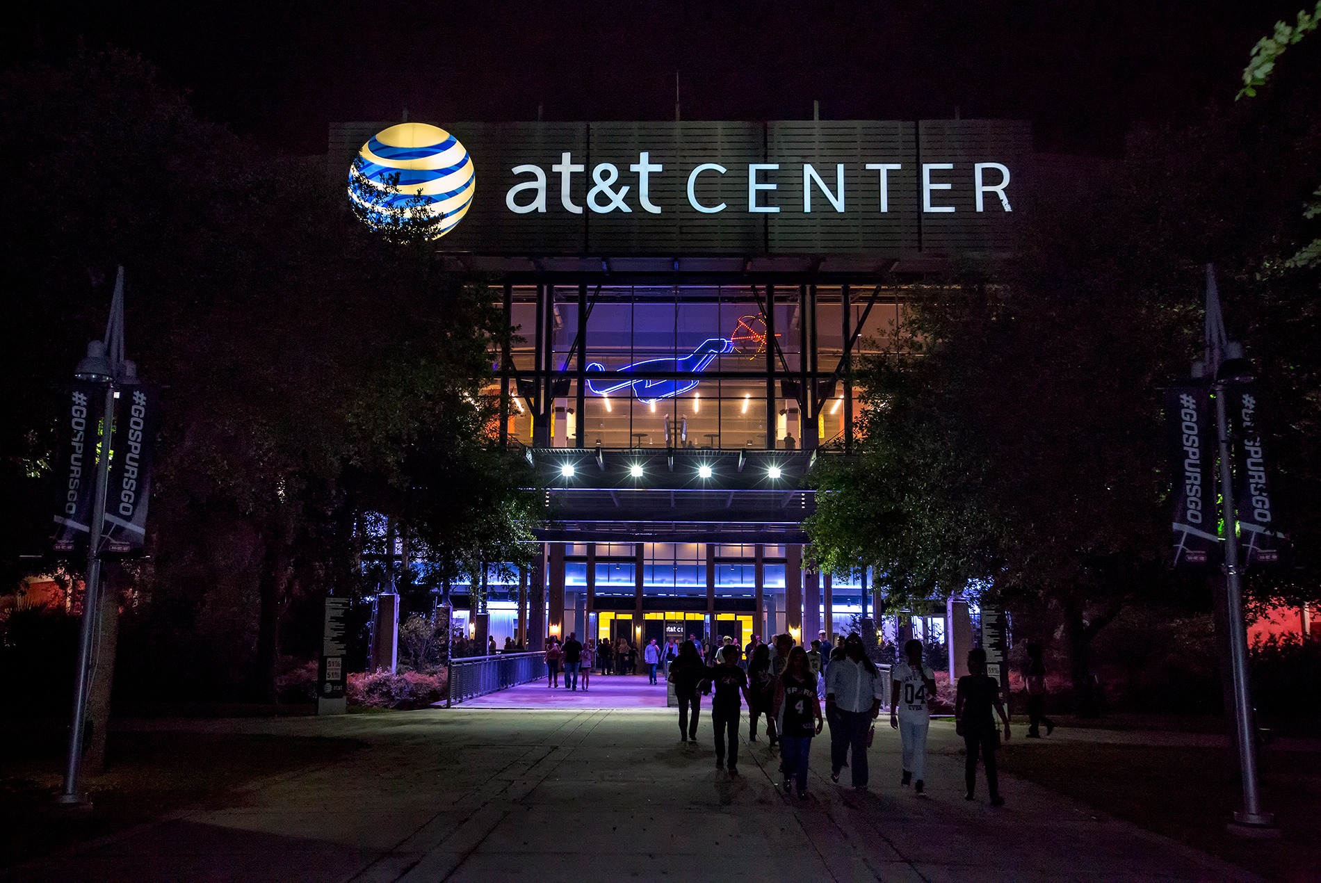
<svg viewBox="0 0 1321 883">
<path fill-rule="evenodd" d="M 1030 157 L 1009 120 L 345 123 L 329 153 L 446 251 L 684 256 L 1005 251 Z"/>
</svg>

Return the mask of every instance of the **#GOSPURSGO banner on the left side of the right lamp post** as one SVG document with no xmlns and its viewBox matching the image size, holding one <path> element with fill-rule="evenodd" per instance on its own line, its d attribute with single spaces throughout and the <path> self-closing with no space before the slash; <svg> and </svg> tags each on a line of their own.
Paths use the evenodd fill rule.
<svg viewBox="0 0 1321 883">
<path fill-rule="evenodd" d="M 1165 391 L 1165 426 L 1174 464 L 1173 566 L 1203 566 L 1219 542 L 1215 517 L 1210 397 L 1201 386 Z"/>
</svg>

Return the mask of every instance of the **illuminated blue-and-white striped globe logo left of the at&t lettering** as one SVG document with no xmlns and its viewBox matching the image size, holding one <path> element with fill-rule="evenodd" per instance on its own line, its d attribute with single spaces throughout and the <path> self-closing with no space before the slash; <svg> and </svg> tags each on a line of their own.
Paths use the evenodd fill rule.
<svg viewBox="0 0 1321 883">
<path fill-rule="evenodd" d="M 400 123 L 362 145 L 349 169 L 357 214 L 383 231 L 436 239 L 468 214 L 477 176 L 458 139 L 427 123 Z"/>
</svg>

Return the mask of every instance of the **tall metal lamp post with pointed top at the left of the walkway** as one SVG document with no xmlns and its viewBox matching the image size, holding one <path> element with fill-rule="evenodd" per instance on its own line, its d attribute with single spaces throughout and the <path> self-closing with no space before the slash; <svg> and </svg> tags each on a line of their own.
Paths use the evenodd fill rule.
<svg viewBox="0 0 1321 883">
<path fill-rule="evenodd" d="M 107 344 L 110 346 L 107 352 Z M 111 428 L 115 423 L 115 397 L 120 385 L 136 381 L 136 366 L 124 360 L 124 268 L 115 280 L 110 324 L 106 340 L 87 344 L 87 356 L 78 362 L 74 377 L 89 383 L 103 385 L 106 390 L 102 411 L 100 441 L 96 452 L 96 493 L 92 504 L 87 537 L 87 576 L 83 587 L 82 628 L 78 638 L 78 670 L 74 681 L 73 727 L 69 734 L 69 759 L 65 765 L 65 784 L 57 798 L 65 805 L 86 805 L 87 797 L 79 789 L 83 731 L 86 730 L 87 695 L 91 691 L 92 672 L 96 666 L 95 640 L 100 617 L 100 541 L 106 527 L 106 496 L 110 488 Z"/>
</svg>

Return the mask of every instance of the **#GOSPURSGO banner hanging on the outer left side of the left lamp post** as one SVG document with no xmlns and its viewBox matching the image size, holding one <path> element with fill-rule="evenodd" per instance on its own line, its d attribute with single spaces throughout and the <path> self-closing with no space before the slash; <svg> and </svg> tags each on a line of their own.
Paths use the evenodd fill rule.
<svg viewBox="0 0 1321 883">
<path fill-rule="evenodd" d="M 70 553 L 91 534 L 96 494 L 96 445 L 106 387 L 74 383 L 59 414 L 59 455 L 55 467 L 55 534 L 52 550 Z"/>
</svg>

